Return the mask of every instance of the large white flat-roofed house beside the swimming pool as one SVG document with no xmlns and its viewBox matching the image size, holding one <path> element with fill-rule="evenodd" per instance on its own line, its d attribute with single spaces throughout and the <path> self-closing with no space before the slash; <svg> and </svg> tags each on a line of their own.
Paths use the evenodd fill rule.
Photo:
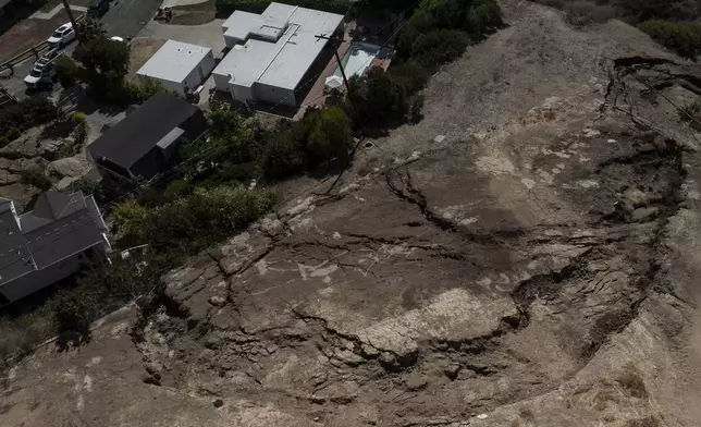
<svg viewBox="0 0 701 427">
<path fill-rule="evenodd" d="M 343 15 L 288 4 L 235 11 L 222 25 L 231 51 L 212 73 L 217 89 L 237 101 L 297 106 L 295 89 L 328 44 L 316 36 L 342 29 Z"/>
</svg>

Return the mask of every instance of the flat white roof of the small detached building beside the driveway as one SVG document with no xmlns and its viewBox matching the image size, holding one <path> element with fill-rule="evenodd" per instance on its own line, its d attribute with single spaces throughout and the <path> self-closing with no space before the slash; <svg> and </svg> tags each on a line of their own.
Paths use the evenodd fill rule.
<svg viewBox="0 0 701 427">
<path fill-rule="evenodd" d="M 204 46 L 168 40 L 136 74 L 183 82 L 210 51 Z"/>
</svg>

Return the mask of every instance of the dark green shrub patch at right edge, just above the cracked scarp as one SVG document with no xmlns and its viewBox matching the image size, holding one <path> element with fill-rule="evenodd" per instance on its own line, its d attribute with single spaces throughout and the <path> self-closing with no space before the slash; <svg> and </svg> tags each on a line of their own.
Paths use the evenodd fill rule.
<svg viewBox="0 0 701 427">
<path fill-rule="evenodd" d="M 645 21 L 638 28 L 682 57 L 694 59 L 701 51 L 701 24 Z"/>
</svg>

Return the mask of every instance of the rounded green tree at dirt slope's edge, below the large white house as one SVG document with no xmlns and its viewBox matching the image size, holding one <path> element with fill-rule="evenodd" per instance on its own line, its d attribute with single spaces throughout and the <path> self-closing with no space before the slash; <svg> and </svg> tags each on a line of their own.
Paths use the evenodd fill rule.
<svg viewBox="0 0 701 427">
<path fill-rule="evenodd" d="M 333 158 L 345 159 L 353 147 L 350 119 L 339 107 L 322 110 L 315 119 L 307 138 L 311 164 Z"/>
</svg>

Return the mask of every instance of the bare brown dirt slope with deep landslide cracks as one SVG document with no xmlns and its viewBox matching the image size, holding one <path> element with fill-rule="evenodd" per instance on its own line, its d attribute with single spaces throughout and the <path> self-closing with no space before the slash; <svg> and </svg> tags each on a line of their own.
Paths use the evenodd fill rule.
<svg viewBox="0 0 701 427">
<path fill-rule="evenodd" d="M 7 373 L 0 425 L 701 425 L 701 73 L 502 4 L 425 121 Z"/>
</svg>

